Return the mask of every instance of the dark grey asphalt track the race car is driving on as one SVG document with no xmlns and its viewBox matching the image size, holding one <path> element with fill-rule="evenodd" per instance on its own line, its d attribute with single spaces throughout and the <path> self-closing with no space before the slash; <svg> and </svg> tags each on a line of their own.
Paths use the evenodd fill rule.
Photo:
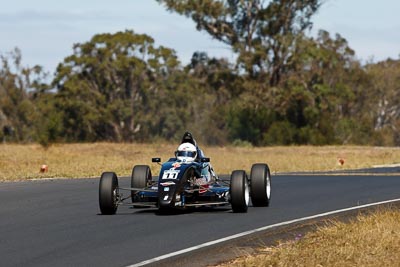
<svg viewBox="0 0 400 267">
<path fill-rule="evenodd" d="M 244 231 L 400 198 L 400 174 L 272 177 L 270 207 L 99 215 L 98 179 L 0 183 L 1 266 L 128 266 Z M 120 185 L 128 185 L 121 179 Z M 183 256 L 184 257 L 184 256 Z"/>
</svg>

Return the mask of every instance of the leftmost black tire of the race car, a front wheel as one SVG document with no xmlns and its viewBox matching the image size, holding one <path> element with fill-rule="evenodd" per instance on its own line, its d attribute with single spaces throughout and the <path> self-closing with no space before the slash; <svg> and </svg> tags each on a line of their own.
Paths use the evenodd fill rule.
<svg viewBox="0 0 400 267">
<path fill-rule="evenodd" d="M 101 214 L 117 212 L 118 178 L 114 172 L 103 172 L 99 184 L 99 205 Z"/>
</svg>

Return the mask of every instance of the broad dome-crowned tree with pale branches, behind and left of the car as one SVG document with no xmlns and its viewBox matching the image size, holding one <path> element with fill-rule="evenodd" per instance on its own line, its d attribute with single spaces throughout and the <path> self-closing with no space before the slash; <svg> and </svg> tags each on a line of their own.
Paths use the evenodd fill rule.
<svg viewBox="0 0 400 267">
<path fill-rule="evenodd" d="M 146 139 L 162 81 L 178 67 L 175 51 L 133 31 L 98 34 L 74 45 L 53 82 L 66 140 Z"/>
</svg>

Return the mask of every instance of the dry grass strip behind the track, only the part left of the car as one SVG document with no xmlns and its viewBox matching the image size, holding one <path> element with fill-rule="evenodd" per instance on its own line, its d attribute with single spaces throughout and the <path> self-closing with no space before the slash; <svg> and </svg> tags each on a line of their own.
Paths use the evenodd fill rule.
<svg viewBox="0 0 400 267">
<path fill-rule="evenodd" d="M 154 165 L 151 157 L 165 157 L 163 151 L 168 149 L 168 145 L 111 143 L 63 144 L 48 149 L 40 145 L 1 145 L 0 180 L 99 177 L 103 171 L 130 175 L 133 165 Z M 39 172 L 42 164 L 48 165 L 48 172 Z"/>
</svg>

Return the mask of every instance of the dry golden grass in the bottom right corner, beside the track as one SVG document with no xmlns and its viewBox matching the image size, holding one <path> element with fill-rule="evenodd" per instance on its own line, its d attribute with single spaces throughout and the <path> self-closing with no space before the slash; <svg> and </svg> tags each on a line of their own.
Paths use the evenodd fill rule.
<svg viewBox="0 0 400 267">
<path fill-rule="evenodd" d="M 298 241 L 265 248 L 257 256 L 223 266 L 400 266 L 400 211 L 359 215 L 349 224 L 334 222 Z"/>
</svg>

